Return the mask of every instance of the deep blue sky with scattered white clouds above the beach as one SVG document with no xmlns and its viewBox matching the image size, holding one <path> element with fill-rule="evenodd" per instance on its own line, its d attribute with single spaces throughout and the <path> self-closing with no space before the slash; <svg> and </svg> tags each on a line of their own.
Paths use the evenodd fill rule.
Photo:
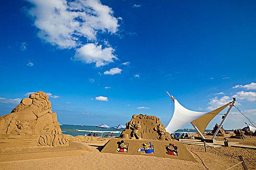
<svg viewBox="0 0 256 170">
<path fill-rule="evenodd" d="M 0 115 L 43 91 L 62 124 L 143 113 L 167 125 L 169 91 L 201 112 L 236 97 L 255 121 L 255 11 L 252 0 L 2 0 Z M 233 108 L 224 128 L 243 120 Z"/>
</svg>

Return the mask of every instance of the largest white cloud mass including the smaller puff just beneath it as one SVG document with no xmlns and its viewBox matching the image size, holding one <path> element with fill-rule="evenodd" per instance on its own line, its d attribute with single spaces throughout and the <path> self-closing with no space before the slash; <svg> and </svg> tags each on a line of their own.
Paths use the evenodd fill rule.
<svg viewBox="0 0 256 170">
<path fill-rule="evenodd" d="M 122 18 L 113 17 L 112 9 L 100 0 L 27 1 L 33 4 L 28 14 L 33 17 L 34 25 L 39 30 L 38 36 L 45 42 L 60 49 L 74 48 L 75 60 L 96 63 L 96 67 L 116 59 L 111 47 L 97 45 L 97 35 L 117 33 L 118 19 Z"/>
</svg>

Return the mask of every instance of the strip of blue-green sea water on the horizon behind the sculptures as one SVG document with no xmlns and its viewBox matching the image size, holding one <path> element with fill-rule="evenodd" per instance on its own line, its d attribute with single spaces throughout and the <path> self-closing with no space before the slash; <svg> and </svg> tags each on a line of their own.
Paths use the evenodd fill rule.
<svg viewBox="0 0 256 170">
<path fill-rule="evenodd" d="M 96 126 L 86 126 L 86 125 L 68 125 L 68 124 L 64 124 L 61 125 L 61 129 L 62 129 L 62 133 L 66 134 L 66 135 L 71 135 L 71 136 L 77 136 L 77 135 L 88 135 L 90 133 L 99 133 L 98 136 L 101 136 L 102 132 L 103 135 L 102 136 L 106 136 L 108 133 L 114 133 L 115 136 L 120 136 L 121 132 L 124 129 L 114 129 L 114 127 L 111 127 L 111 129 L 102 129 L 102 128 L 98 128 Z M 187 134 L 192 134 L 192 133 L 196 133 L 195 130 L 184 130 L 184 129 L 179 129 L 177 131 L 175 131 L 175 133 L 187 133 Z"/>
</svg>

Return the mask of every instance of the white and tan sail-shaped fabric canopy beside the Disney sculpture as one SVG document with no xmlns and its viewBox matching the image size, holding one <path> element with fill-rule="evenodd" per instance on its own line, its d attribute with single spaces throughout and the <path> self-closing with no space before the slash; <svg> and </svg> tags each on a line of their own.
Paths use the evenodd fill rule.
<svg viewBox="0 0 256 170">
<path fill-rule="evenodd" d="M 204 132 L 205 128 L 209 124 L 209 122 L 224 108 L 226 108 L 230 103 L 213 110 L 212 112 L 196 112 L 189 110 L 185 107 L 183 107 L 176 99 L 174 100 L 174 112 L 173 116 L 171 118 L 170 123 L 166 127 L 166 131 L 170 134 L 175 132 L 176 130 L 180 129 L 181 127 L 187 125 L 188 123 L 192 122 L 195 124 L 195 126 L 200 127 L 200 132 Z M 205 116 L 205 117 L 203 117 Z M 199 119 L 203 117 L 202 119 Z"/>
</svg>

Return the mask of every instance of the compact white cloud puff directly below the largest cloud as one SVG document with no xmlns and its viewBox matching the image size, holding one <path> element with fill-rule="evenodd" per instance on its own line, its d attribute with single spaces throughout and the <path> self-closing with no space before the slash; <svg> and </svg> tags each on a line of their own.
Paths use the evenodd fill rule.
<svg viewBox="0 0 256 170">
<path fill-rule="evenodd" d="M 87 64 L 96 63 L 96 67 L 100 67 L 114 62 L 113 59 L 118 59 L 113 55 L 114 51 L 112 47 L 102 49 L 101 45 L 97 46 L 89 43 L 82 46 L 80 49 L 76 49 L 76 54 L 73 59 Z"/>
</svg>

